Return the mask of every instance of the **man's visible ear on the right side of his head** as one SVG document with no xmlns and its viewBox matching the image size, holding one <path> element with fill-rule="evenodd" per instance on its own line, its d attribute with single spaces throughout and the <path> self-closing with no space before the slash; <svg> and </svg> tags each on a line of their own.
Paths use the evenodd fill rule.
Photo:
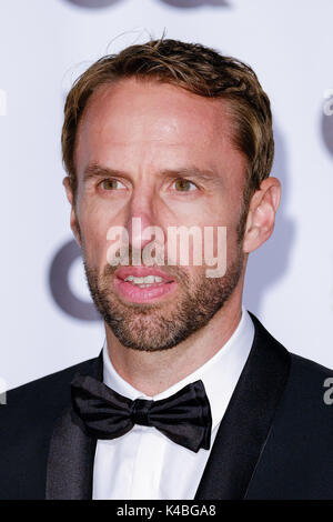
<svg viewBox="0 0 333 522">
<path fill-rule="evenodd" d="M 244 253 L 253 252 L 271 237 L 280 197 L 281 183 L 276 178 L 263 180 L 252 195 L 243 240 Z"/>
</svg>

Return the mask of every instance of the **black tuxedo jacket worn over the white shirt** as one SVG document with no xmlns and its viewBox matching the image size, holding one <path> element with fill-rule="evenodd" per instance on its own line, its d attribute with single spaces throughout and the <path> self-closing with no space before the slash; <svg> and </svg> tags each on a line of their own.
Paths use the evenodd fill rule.
<svg viewBox="0 0 333 522">
<path fill-rule="evenodd" d="M 333 404 L 323 396 L 333 371 L 290 353 L 251 317 L 253 345 L 195 500 L 333 499 Z M 97 441 L 71 410 L 77 372 L 102 379 L 101 357 L 8 393 L 0 499 L 91 499 Z"/>
</svg>

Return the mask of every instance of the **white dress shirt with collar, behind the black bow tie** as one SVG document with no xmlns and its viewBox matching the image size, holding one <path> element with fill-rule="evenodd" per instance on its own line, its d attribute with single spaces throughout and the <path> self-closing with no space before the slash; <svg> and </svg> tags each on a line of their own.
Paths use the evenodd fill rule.
<svg viewBox="0 0 333 522">
<path fill-rule="evenodd" d="M 242 309 L 241 321 L 229 341 L 201 368 L 154 396 L 148 396 L 124 381 L 114 370 L 103 345 L 104 383 L 134 400 L 160 400 L 186 384 L 202 380 L 212 412 L 210 450 L 194 453 L 172 442 L 153 426 L 135 424 L 113 440 L 99 440 L 93 468 L 94 500 L 191 500 L 194 499 L 220 422 L 246 362 L 254 325 Z"/>
</svg>

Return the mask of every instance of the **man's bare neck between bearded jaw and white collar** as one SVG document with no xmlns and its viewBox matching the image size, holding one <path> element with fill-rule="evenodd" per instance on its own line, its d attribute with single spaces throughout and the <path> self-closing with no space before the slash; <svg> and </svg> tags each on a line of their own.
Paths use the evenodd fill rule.
<svg viewBox="0 0 333 522">
<path fill-rule="evenodd" d="M 123 347 L 105 325 L 108 352 L 119 375 L 149 396 L 157 395 L 209 361 L 240 323 L 241 299 L 231 299 L 210 322 L 175 347 L 144 352 Z"/>
</svg>

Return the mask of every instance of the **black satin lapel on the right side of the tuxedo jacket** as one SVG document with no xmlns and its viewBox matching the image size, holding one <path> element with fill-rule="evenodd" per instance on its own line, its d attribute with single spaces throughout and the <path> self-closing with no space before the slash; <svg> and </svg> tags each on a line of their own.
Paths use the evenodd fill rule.
<svg viewBox="0 0 333 522">
<path fill-rule="evenodd" d="M 286 384 L 289 352 L 251 314 L 253 345 L 221 421 L 195 500 L 246 495 Z"/>
</svg>

